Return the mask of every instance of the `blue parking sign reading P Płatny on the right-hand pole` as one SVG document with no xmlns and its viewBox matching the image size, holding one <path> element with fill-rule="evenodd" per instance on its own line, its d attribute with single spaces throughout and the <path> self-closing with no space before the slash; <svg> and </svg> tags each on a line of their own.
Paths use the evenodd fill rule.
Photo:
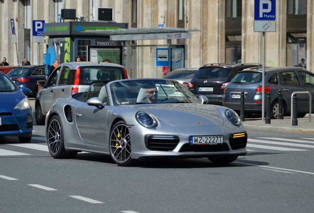
<svg viewBox="0 0 314 213">
<path fill-rule="evenodd" d="M 255 0 L 254 20 L 276 20 L 276 0 Z"/>
</svg>

